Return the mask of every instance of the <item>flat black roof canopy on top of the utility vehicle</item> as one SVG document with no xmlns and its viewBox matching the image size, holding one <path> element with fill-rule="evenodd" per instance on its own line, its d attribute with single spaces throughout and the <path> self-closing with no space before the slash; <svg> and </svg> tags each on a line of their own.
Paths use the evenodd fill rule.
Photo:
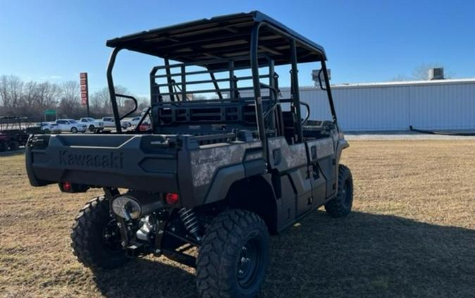
<svg viewBox="0 0 475 298">
<path fill-rule="evenodd" d="M 232 59 L 249 56 L 251 32 L 256 23 L 262 23 L 258 54 L 269 56 L 276 65 L 290 63 L 289 39 L 296 40 L 298 62 L 326 59 L 322 46 L 259 11 L 222 15 L 138 32 L 110 39 L 107 46 L 185 63 Z"/>
</svg>

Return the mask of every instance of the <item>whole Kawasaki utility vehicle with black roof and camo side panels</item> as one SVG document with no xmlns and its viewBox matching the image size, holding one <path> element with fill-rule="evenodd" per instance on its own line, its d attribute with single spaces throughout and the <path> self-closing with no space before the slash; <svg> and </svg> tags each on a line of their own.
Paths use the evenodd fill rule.
<svg viewBox="0 0 475 298">
<path fill-rule="evenodd" d="M 269 266 L 270 235 L 319 206 L 335 217 L 350 212 L 353 180 L 339 164 L 348 142 L 322 46 L 258 11 L 107 45 L 115 132 L 33 135 L 26 151 L 33 186 L 103 189 L 72 226 L 72 248 L 85 266 L 103 270 L 165 255 L 196 268 L 202 297 L 254 297 Z M 122 50 L 163 59 L 151 69 L 151 105 L 127 132 L 120 120 L 135 112 L 137 100 L 115 92 L 113 66 Z M 312 100 L 300 101 L 299 63 L 319 63 L 331 120 L 310 120 Z M 291 85 L 285 96 L 281 77 Z M 136 108 L 120 115 L 118 97 Z M 151 130 L 141 132 L 147 117 Z"/>
</svg>

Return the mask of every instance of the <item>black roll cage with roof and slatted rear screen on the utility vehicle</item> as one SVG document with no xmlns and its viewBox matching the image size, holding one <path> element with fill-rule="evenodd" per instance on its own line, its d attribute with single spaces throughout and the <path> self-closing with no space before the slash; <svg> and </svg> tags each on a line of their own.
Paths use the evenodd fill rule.
<svg viewBox="0 0 475 298">
<path fill-rule="evenodd" d="M 241 99 L 239 92 L 246 90 L 246 87 L 238 87 L 237 81 L 251 80 L 252 86 L 247 87 L 253 92 L 252 105 L 255 114 L 255 126 L 257 126 L 257 137 L 262 142 L 264 159 L 268 161 L 267 135 L 272 133 L 272 121 L 266 121 L 273 116 L 273 111 L 279 102 L 285 102 L 278 98 L 278 82 L 274 73 L 274 66 L 291 66 L 291 97 L 288 102 L 291 104 L 291 111 L 296 119 L 301 119 L 300 94 L 298 88 L 298 63 L 320 62 L 322 68 L 324 85 L 320 80 L 320 87 L 326 90 L 329 99 L 329 106 L 333 122 L 337 123 L 334 101 L 331 95 L 329 77 L 326 66 L 326 54 L 322 46 L 311 42 L 270 18 L 269 16 L 253 11 L 251 13 L 238 13 L 224 15 L 220 17 L 196 20 L 194 22 L 182 23 L 170 27 L 163 27 L 156 30 L 139 32 L 134 35 L 127 35 L 110 39 L 107 46 L 113 47 L 112 54 L 107 68 L 108 89 L 110 93 L 113 115 L 115 118 L 116 131 L 122 132 L 120 119 L 129 116 L 137 110 L 137 100 L 125 94 L 116 94 L 113 82 L 113 67 L 115 59 L 122 49 L 137 51 L 152 56 L 163 58 L 164 66 L 156 66 L 151 70 L 151 108 L 148 108 L 144 116 L 139 121 L 140 124 L 149 112 L 152 113 L 153 132 L 157 130 L 160 123 L 158 118 L 170 118 L 177 121 L 182 117 L 186 123 L 193 122 L 192 108 L 199 108 L 199 104 L 215 104 L 217 110 L 213 113 L 201 113 L 200 116 L 209 116 L 215 122 L 236 121 L 243 124 L 246 120 L 246 103 L 250 99 Z M 170 61 L 177 61 L 172 65 Z M 186 71 L 188 66 L 201 66 L 204 70 Z M 260 75 L 260 68 L 267 67 L 267 75 Z M 179 73 L 173 73 L 173 69 L 179 69 Z M 237 77 L 236 70 L 250 69 L 251 75 L 247 77 Z M 165 74 L 157 75 L 158 70 L 165 70 Z M 226 78 L 216 78 L 215 73 L 226 71 Z M 209 80 L 186 81 L 186 75 L 210 76 Z M 179 82 L 174 79 L 179 77 Z M 165 78 L 166 82 L 158 84 L 157 78 Z M 261 82 L 262 78 L 268 78 L 269 83 Z M 226 82 L 227 88 L 219 86 Z M 189 94 L 194 94 L 196 90 L 186 89 L 191 84 L 212 83 L 213 89 L 204 89 L 201 92 L 215 92 L 217 99 L 206 101 L 189 100 Z M 160 88 L 165 87 L 165 92 L 160 92 Z M 268 95 L 263 95 L 262 89 L 267 89 Z M 199 91 L 198 91 L 199 92 Z M 224 97 L 224 93 L 229 96 Z M 124 97 L 135 102 L 135 108 L 125 115 L 120 116 L 118 111 L 117 98 Z M 167 100 L 165 100 L 167 99 Z M 241 105 L 241 108 L 239 106 Z M 305 103 L 304 103 L 305 105 Z M 208 106 L 208 105 L 207 105 Z M 227 113 L 223 106 L 234 108 L 236 116 L 233 118 L 232 112 Z M 308 108 L 308 106 L 306 106 Z M 178 111 L 182 108 L 181 111 Z M 191 110 L 190 110 L 191 109 Z M 177 110 L 177 111 L 175 111 Z M 248 108 L 247 108 L 248 110 Z M 170 113 L 170 115 L 165 115 Z M 172 111 L 172 112 L 170 112 Z M 223 112 L 224 111 L 224 112 Z M 161 113 L 161 114 L 160 114 Z M 310 111 L 308 111 L 310 113 Z M 213 118 L 213 116 L 215 118 Z M 245 121 L 244 121 L 245 122 Z M 295 122 L 297 132 L 297 142 L 303 141 L 302 123 Z M 338 129 L 338 125 L 336 125 Z"/>
</svg>

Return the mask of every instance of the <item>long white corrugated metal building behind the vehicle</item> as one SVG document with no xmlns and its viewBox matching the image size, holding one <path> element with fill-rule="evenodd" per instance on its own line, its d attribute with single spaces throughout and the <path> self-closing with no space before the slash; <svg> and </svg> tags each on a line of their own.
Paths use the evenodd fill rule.
<svg viewBox="0 0 475 298">
<path fill-rule="evenodd" d="M 338 121 L 346 131 L 475 130 L 475 79 L 332 85 Z M 289 88 L 282 89 L 289 97 Z M 327 94 L 302 87 L 311 119 L 330 119 Z"/>
</svg>

